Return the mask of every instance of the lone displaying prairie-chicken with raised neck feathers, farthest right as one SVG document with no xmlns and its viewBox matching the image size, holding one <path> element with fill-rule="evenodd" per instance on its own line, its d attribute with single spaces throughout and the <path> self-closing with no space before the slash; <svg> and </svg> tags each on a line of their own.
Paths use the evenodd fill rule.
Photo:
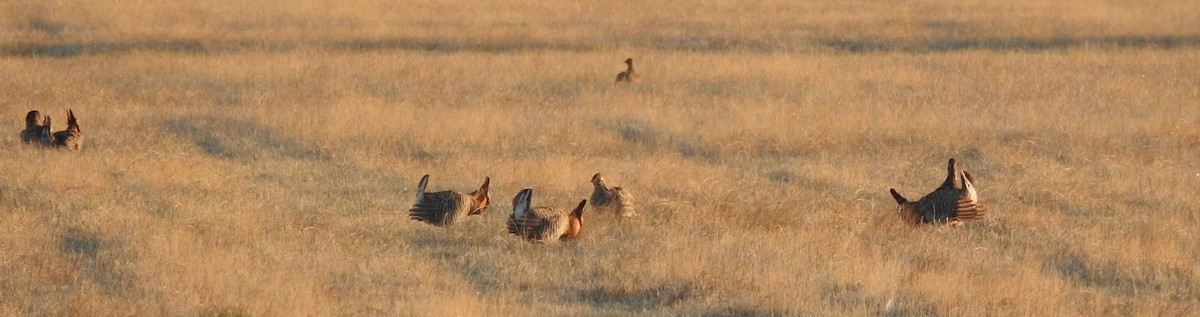
<svg viewBox="0 0 1200 317">
<path fill-rule="evenodd" d="M 979 203 L 971 173 L 959 169 L 954 158 L 950 158 L 946 169 L 942 185 L 916 202 L 904 198 L 895 189 L 890 190 L 892 198 L 900 204 L 900 214 L 906 221 L 914 225 L 961 223 L 983 219 L 986 208 Z"/>
</svg>

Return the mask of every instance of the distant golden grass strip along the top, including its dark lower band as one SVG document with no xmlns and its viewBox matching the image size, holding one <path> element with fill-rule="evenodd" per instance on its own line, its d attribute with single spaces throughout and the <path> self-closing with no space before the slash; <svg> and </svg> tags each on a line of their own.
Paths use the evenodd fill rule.
<svg viewBox="0 0 1200 317">
<path fill-rule="evenodd" d="M 0 47 L 13 55 L 314 48 L 1043 50 L 1194 47 L 1198 36 L 1195 6 L 1186 1 L 17 1 L 0 8 L 7 16 Z"/>
</svg>

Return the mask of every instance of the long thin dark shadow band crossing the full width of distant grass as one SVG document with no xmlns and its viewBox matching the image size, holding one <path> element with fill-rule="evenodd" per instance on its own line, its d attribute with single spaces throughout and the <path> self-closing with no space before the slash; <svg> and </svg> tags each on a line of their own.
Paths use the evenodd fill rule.
<svg viewBox="0 0 1200 317">
<path fill-rule="evenodd" d="M 53 25 L 46 26 L 52 28 Z M 848 53 L 876 52 L 953 52 L 953 50 L 1061 50 L 1072 48 L 1156 48 L 1182 49 L 1200 47 L 1200 35 L 1114 35 L 1084 37 L 943 37 L 926 41 L 902 41 L 883 37 L 823 37 L 752 40 L 730 36 L 650 36 L 611 38 L 592 42 L 520 38 L 488 41 L 476 38 L 389 37 L 344 40 L 144 40 L 95 41 L 70 43 L 17 43 L 0 47 L 8 56 L 71 58 L 78 55 L 122 54 L 130 52 L 172 52 L 186 54 L 228 54 L 238 52 L 347 50 L 388 52 L 420 50 L 434 53 L 511 53 L 511 52 L 594 52 L 605 47 L 629 46 L 684 52 L 814 52 L 834 49 Z"/>
</svg>

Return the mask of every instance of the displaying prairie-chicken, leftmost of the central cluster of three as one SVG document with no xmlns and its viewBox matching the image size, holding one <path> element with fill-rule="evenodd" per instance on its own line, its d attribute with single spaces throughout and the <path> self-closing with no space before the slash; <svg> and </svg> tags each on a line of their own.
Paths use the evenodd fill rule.
<svg viewBox="0 0 1200 317">
<path fill-rule="evenodd" d="M 492 178 L 484 178 L 484 186 L 470 193 L 425 192 L 430 184 L 430 175 L 425 175 L 416 186 L 416 199 L 408 210 L 408 217 L 444 227 L 466 221 L 467 216 L 481 215 L 487 211 L 487 204 L 492 201 L 492 195 L 487 192 L 487 184 L 491 181 Z"/>
</svg>

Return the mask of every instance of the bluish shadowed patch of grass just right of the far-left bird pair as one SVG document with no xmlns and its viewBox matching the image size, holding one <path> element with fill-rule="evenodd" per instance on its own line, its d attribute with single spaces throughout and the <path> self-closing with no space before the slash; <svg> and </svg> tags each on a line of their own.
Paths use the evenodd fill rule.
<svg viewBox="0 0 1200 317">
<path fill-rule="evenodd" d="M 174 118 L 167 131 L 199 145 L 215 157 L 253 161 L 264 156 L 328 161 L 329 154 L 305 146 L 258 122 L 236 118 Z"/>
</svg>

